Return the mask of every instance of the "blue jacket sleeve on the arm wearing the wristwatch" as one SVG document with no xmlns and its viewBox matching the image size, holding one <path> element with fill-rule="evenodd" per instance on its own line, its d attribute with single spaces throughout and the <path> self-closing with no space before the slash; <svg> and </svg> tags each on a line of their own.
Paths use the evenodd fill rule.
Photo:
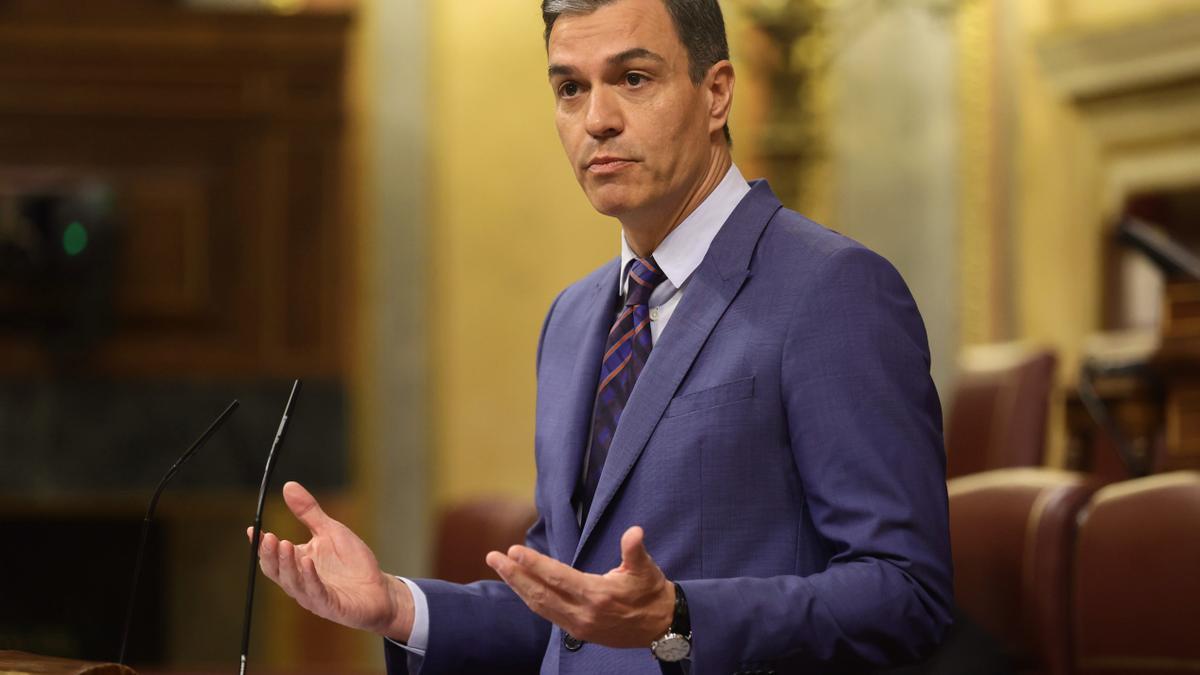
<svg viewBox="0 0 1200 675">
<path fill-rule="evenodd" d="M 804 504 L 830 551 L 808 577 L 682 581 L 695 673 L 746 663 L 887 665 L 948 626 L 941 408 L 916 303 L 862 247 L 823 261 L 793 303 L 781 395 Z"/>
</svg>

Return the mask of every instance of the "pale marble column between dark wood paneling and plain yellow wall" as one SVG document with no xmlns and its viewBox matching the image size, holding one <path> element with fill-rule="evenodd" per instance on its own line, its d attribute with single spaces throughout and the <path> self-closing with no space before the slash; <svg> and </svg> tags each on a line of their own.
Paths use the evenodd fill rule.
<svg viewBox="0 0 1200 675">
<path fill-rule="evenodd" d="M 359 203 L 354 477 L 385 569 L 428 573 L 426 11 L 362 0 L 349 189 Z"/>
</svg>

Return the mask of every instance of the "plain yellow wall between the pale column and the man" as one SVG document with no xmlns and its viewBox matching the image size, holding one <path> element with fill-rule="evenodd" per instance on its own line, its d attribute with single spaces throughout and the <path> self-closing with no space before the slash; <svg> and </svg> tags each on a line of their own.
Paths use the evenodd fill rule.
<svg viewBox="0 0 1200 675">
<path fill-rule="evenodd" d="M 532 498 L 541 321 L 618 253 L 619 226 L 592 210 L 559 145 L 538 2 L 430 12 L 433 500 Z M 750 108 L 734 106 L 736 139 Z"/>
</svg>

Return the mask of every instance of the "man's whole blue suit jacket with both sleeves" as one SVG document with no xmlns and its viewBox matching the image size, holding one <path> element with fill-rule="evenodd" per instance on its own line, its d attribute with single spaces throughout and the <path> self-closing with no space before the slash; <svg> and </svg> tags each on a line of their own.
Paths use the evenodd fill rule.
<svg viewBox="0 0 1200 675">
<path fill-rule="evenodd" d="M 602 573 L 643 526 L 686 593 L 694 675 L 862 671 L 928 652 L 952 605 L 942 422 L 895 269 L 754 184 L 659 336 L 581 528 L 571 491 L 618 267 L 566 288 L 542 328 L 528 545 Z M 568 651 L 500 583 L 418 584 L 422 675 L 659 673 L 647 649 Z M 389 670 L 404 657 L 389 646 Z"/>
</svg>

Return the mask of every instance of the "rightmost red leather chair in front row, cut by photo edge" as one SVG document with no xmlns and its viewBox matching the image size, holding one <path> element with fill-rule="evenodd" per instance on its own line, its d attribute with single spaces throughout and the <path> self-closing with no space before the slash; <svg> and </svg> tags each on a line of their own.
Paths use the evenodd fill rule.
<svg viewBox="0 0 1200 675">
<path fill-rule="evenodd" d="M 1080 675 L 1200 673 L 1200 473 L 1098 491 L 1079 526 Z"/>
</svg>

